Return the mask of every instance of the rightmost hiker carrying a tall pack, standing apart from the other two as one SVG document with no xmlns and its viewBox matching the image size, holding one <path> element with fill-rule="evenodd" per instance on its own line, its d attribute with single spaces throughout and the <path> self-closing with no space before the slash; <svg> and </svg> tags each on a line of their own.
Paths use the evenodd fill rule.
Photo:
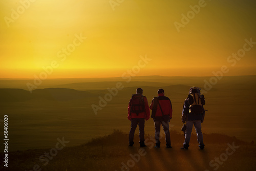
<svg viewBox="0 0 256 171">
<path fill-rule="evenodd" d="M 198 146 L 200 149 L 204 149 L 201 123 L 203 123 L 205 115 L 203 107 L 205 104 L 205 98 L 204 95 L 200 94 L 200 90 L 200 88 L 191 87 L 188 92 L 188 97 L 184 101 L 181 120 L 183 123 L 186 122 L 187 125 L 185 131 L 185 142 L 181 149 L 188 149 L 193 125 L 195 126 L 197 133 Z"/>
</svg>

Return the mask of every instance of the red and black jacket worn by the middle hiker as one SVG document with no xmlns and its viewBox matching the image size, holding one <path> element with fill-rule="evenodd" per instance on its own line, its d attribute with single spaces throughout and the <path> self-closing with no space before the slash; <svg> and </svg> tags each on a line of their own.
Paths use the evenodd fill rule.
<svg viewBox="0 0 256 171">
<path fill-rule="evenodd" d="M 170 102 L 170 99 L 168 97 L 164 96 L 162 93 L 160 93 L 160 94 L 158 94 L 158 101 L 161 105 L 163 115 L 169 115 L 169 118 L 172 119 L 173 107 L 172 107 L 172 102 Z M 154 98 L 150 105 L 151 110 L 153 109 L 153 106 L 154 106 Z M 162 117 L 163 115 L 162 115 L 159 105 L 157 105 L 157 111 L 156 111 L 155 117 Z"/>
</svg>

